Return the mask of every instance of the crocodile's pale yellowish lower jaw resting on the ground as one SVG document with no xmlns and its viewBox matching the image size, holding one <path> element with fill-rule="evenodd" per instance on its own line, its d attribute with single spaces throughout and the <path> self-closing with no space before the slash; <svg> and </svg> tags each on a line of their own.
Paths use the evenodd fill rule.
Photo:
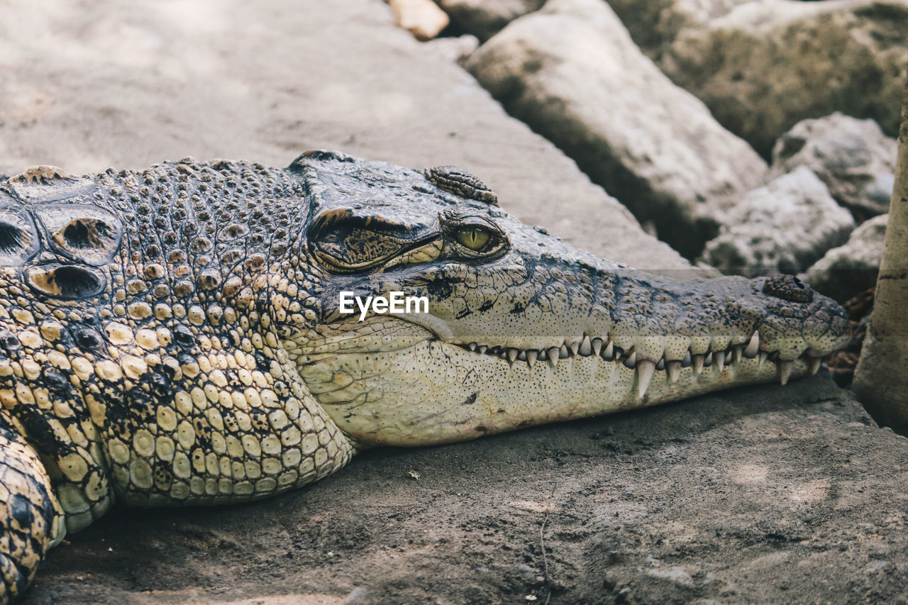
<svg viewBox="0 0 908 605">
<path fill-rule="evenodd" d="M 689 362 L 654 362 L 587 338 L 577 346 L 549 349 L 544 359 L 538 352 L 531 361 L 535 350 L 453 344 L 409 322 L 376 324 L 348 325 L 321 342 L 290 346 L 312 394 L 342 431 L 363 444 L 465 441 L 787 380 L 817 365 L 808 358 L 768 361 L 758 343 L 756 351 L 745 347 L 740 354 L 733 349 L 725 355 L 691 354 Z M 369 337 L 391 327 L 393 343 Z"/>
</svg>

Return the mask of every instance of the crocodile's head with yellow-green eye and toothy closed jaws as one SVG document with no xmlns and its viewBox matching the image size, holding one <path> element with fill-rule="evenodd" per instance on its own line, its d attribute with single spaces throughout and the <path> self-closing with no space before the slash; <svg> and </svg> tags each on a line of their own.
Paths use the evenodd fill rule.
<svg viewBox="0 0 908 605">
<path fill-rule="evenodd" d="M 453 167 L 311 152 L 317 321 L 284 348 L 363 444 L 459 441 L 815 372 L 844 310 L 795 277 L 675 282 L 597 259 L 505 213 Z M 392 293 L 424 297 L 404 312 Z M 383 298 L 342 312 L 346 300 Z M 422 311 L 423 309 L 419 309 Z"/>
</svg>

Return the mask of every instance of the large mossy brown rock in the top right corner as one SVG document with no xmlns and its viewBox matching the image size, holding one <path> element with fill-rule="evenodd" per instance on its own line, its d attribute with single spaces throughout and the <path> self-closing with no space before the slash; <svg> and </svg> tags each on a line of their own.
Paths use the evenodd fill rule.
<svg viewBox="0 0 908 605">
<path fill-rule="evenodd" d="M 795 123 L 835 111 L 894 135 L 905 31 L 903 0 L 749 2 L 679 33 L 660 67 L 768 156 Z"/>
</svg>

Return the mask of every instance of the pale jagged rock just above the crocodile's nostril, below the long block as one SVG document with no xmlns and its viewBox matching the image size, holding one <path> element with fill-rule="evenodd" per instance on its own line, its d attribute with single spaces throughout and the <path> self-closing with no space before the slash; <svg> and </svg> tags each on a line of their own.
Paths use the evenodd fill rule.
<svg viewBox="0 0 908 605">
<path fill-rule="evenodd" d="M 804 271 L 854 229 L 852 215 L 804 166 L 746 193 L 726 219 L 706 244 L 706 262 L 746 275 Z"/>
</svg>

